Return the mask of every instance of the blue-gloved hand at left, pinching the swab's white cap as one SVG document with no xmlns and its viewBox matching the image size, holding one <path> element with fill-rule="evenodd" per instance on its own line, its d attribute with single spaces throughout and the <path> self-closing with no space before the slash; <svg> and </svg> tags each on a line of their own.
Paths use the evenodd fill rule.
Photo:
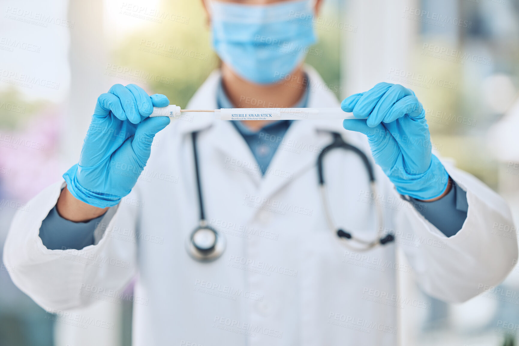
<svg viewBox="0 0 519 346">
<path fill-rule="evenodd" d="M 140 87 L 116 84 L 99 96 L 79 163 L 65 174 L 72 195 L 104 208 L 119 203 L 137 182 L 151 152 L 155 134 L 169 117 L 153 117 L 153 107 L 165 107 L 165 95 L 148 94 Z"/>
</svg>

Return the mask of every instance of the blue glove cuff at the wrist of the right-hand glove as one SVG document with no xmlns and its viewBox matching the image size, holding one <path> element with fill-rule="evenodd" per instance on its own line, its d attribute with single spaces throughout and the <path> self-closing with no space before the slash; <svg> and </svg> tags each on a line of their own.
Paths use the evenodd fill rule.
<svg viewBox="0 0 519 346">
<path fill-rule="evenodd" d="M 419 200 L 442 196 L 449 182 L 449 174 L 435 155 L 432 155 L 431 164 L 424 173 L 407 172 L 401 157 L 390 170 L 384 170 L 384 173 L 397 188 L 398 193 Z"/>
</svg>

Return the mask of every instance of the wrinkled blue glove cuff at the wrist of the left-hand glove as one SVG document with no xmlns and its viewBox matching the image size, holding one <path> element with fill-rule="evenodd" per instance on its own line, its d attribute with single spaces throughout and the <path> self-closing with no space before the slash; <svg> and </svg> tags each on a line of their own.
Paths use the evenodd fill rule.
<svg viewBox="0 0 519 346">
<path fill-rule="evenodd" d="M 101 191 L 91 191 L 81 186 L 78 182 L 78 171 L 81 170 L 79 164 L 73 165 L 68 171 L 63 174 L 63 178 L 65 179 L 67 189 L 69 189 L 72 196 L 81 202 L 97 206 L 98 208 L 106 208 L 108 206 L 114 206 L 119 204 L 122 197 L 125 197 L 130 193 L 126 193 L 123 196 L 111 195 L 110 193 L 105 193 Z"/>
</svg>

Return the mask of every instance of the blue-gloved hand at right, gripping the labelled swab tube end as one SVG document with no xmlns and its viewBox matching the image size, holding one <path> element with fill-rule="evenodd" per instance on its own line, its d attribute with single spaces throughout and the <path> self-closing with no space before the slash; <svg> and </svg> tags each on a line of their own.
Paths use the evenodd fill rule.
<svg viewBox="0 0 519 346">
<path fill-rule="evenodd" d="M 344 128 L 367 135 L 375 162 L 399 193 L 420 200 L 443 194 L 449 176 L 431 153 L 425 110 L 413 91 L 379 83 L 349 96 L 341 108 L 359 118 L 344 120 Z"/>
</svg>

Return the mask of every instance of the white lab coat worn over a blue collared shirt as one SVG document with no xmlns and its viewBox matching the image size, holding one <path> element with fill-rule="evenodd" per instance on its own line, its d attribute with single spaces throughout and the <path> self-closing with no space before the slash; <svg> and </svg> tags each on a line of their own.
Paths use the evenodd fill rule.
<svg viewBox="0 0 519 346">
<path fill-rule="evenodd" d="M 308 106 L 338 107 L 317 72 L 307 72 L 314 86 Z M 216 108 L 218 78 L 213 73 L 188 108 Z M 12 280 L 23 292 L 58 312 L 120 296 L 136 276 L 133 342 L 142 346 L 395 345 L 401 308 L 395 305 L 424 308 L 399 296 L 397 275 L 414 275 L 425 292 L 451 302 L 505 278 L 517 258 L 516 241 L 493 231 L 512 225 L 509 208 L 476 178 L 450 166 L 450 176 L 467 190 L 469 211 L 462 229 L 446 238 L 400 198 L 378 166 L 378 196 L 370 197 L 359 157 L 331 153 L 325 176 L 335 222 L 372 238 L 380 203 L 385 228 L 397 233 L 397 242 L 367 253 L 344 247 L 327 227 L 318 190 L 316 159 L 331 141 L 322 129 L 341 132 L 371 158 L 365 137 L 344 130 L 341 121 L 296 121 L 262 178 L 229 121 L 183 116 L 157 135 L 139 182 L 106 214 L 95 245 L 79 252 L 48 250 L 38 237 L 61 181 L 18 212 L 5 265 L 12 266 Z M 201 130 L 207 219 L 227 240 L 223 256 L 211 263 L 194 261 L 185 251 L 199 220 L 194 130 Z M 395 246 L 409 264 L 397 262 Z"/>
</svg>

